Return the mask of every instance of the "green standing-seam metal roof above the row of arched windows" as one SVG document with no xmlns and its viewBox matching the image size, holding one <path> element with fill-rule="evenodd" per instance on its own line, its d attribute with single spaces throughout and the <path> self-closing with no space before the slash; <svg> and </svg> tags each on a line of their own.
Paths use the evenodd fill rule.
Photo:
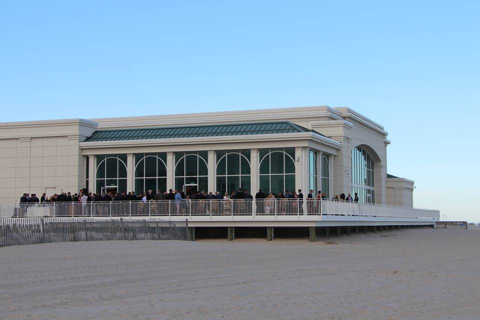
<svg viewBox="0 0 480 320">
<path fill-rule="evenodd" d="M 310 132 L 289 121 L 96 130 L 85 142 Z"/>
</svg>

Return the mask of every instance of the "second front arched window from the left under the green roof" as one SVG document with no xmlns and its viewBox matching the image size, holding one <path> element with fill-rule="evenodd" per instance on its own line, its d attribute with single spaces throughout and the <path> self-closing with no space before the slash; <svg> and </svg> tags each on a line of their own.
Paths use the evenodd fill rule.
<svg viewBox="0 0 480 320">
<path fill-rule="evenodd" d="M 135 192 L 166 190 L 166 153 L 135 154 Z"/>
</svg>

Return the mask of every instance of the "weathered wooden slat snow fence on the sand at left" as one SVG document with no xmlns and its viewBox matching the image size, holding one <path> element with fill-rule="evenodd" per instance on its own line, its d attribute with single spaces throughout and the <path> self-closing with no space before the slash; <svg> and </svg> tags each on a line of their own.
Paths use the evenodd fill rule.
<svg viewBox="0 0 480 320">
<path fill-rule="evenodd" d="M 188 221 L 156 218 L 0 218 L 0 247 L 97 240 L 188 240 Z"/>
</svg>

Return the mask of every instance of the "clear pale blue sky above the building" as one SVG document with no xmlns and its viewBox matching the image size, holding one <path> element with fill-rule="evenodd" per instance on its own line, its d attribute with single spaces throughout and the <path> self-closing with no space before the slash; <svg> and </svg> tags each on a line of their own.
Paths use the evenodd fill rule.
<svg viewBox="0 0 480 320">
<path fill-rule="evenodd" d="M 480 1 L 225 2 L 0 1 L 0 121 L 346 105 L 480 221 Z"/>
</svg>

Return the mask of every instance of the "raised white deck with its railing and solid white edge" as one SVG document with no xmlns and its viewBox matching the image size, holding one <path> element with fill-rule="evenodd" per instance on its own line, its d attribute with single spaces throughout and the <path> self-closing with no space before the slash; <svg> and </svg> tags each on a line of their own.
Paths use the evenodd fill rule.
<svg viewBox="0 0 480 320">
<path fill-rule="evenodd" d="M 0 217 L 161 217 L 190 226 L 435 224 L 438 210 L 326 199 L 180 200 L 0 204 Z"/>
</svg>

